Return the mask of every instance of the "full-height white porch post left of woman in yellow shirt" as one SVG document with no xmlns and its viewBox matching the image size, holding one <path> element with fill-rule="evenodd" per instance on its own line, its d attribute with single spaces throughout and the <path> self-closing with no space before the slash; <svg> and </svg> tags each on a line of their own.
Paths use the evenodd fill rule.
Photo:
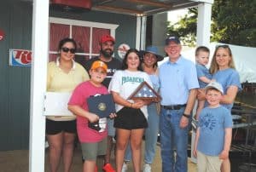
<svg viewBox="0 0 256 172">
<path fill-rule="evenodd" d="M 29 171 L 44 172 L 44 93 L 48 59 L 49 1 L 34 0 L 30 98 Z"/>
</svg>

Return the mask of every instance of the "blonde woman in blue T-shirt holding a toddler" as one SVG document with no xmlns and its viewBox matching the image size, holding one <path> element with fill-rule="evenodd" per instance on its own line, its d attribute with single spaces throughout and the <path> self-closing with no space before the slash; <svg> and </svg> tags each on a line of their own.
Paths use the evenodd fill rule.
<svg viewBox="0 0 256 172">
<path fill-rule="evenodd" d="M 231 111 L 234 100 L 236 99 L 236 94 L 241 90 L 241 83 L 239 74 L 236 72 L 231 49 L 228 45 L 219 45 L 216 47 L 212 57 L 210 73 L 212 74 L 212 79 L 221 83 L 224 89 L 224 96 L 220 101 L 221 105 Z M 204 99 L 204 97 L 204 93 L 199 95 L 200 99 Z M 230 137 L 231 135 L 232 134 L 230 134 Z M 226 147 L 230 148 L 230 144 L 231 143 Z M 223 172 L 230 172 L 229 151 L 230 150 L 226 150 L 219 155 L 219 158 L 223 159 L 221 168 Z"/>
</svg>

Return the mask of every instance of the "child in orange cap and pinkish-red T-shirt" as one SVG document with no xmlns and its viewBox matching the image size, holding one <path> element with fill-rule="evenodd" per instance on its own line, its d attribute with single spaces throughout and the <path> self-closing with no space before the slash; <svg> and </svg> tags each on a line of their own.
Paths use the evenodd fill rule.
<svg viewBox="0 0 256 172">
<path fill-rule="evenodd" d="M 87 99 L 90 96 L 106 95 L 108 89 L 102 85 L 107 76 L 108 66 L 97 60 L 90 67 L 90 80 L 80 83 L 73 91 L 68 102 L 69 111 L 77 115 L 77 130 L 84 158 L 83 171 L 94 172 L 96 169 L 96 157 L 105 155 L 107 149 L 107 118 L 99 118 L 95 113 L 88 111 Z M 115 114 L 111 113 L 110 118 Z M 101 129 L 92 129 L 88 123 L 99 122 Z"/>
</svg>

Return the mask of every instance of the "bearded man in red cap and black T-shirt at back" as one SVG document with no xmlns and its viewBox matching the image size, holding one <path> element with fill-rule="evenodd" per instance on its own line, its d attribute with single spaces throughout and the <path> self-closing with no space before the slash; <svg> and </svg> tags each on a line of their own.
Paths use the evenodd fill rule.
<svg viewBox="0 0 256 172">
<path fill-rule="evenodd" d="M 90 71 L 92 63 L 96 60 L 102 60 L 108 66 L 107 77 L 103 80 L 102 84 L 108 88 L 113 73 L 121 68 L 120 60 L 113 57 L 113 45 L 115 39 L 111 35 L 102 35 L 100 38 L 100 55 L 88 60 L 83 66 L 87 72 Z M 108 118 L 108 148 L 105 156 L 105 164 L 103 170 L 106 172 L 113 172 L 113 167 L 110 164 L 111 151 L 113 146 L 113 136 L 115 135 L 115 129 L 113 128 L 113 119 Z"/>
</svg>

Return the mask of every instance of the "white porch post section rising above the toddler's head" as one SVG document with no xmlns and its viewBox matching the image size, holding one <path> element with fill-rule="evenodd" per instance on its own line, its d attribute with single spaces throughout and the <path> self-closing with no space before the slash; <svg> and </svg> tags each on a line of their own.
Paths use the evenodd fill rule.
<svg viewBox="0 0 256 172">
<path fill-rule="evenodd" d="M 211 36 L 212 3 L 198 5 L 196 44 L 209 46 Z"/>
</svg>

